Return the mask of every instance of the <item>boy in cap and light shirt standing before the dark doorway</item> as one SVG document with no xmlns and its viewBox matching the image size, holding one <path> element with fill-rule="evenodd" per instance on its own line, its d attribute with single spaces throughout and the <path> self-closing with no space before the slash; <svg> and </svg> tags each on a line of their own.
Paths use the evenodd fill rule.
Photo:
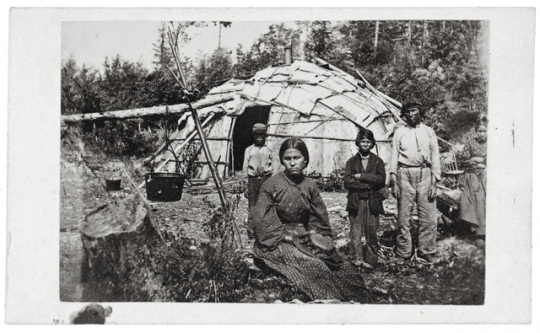
<svg viewBox="0 0 540 333">
<path fill-rule="evenodd" d="M 262 184 L 272 176 L 272 152 L 266 146 L 266 125 L 253 125 L 253 145 L 246 148 L 242 169 L 244 178 L 248 179 L 245 193 L 248 199 L 248 237 L 253 238 L 252 211 Z"/>
</svg>

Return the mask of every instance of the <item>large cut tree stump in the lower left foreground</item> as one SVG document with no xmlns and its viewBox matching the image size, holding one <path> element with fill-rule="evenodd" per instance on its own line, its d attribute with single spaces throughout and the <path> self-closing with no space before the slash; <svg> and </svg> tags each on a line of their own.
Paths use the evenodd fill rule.
<svg viewBox="0 0 540 333">
<path fill-rule="evenodd" d="M 154 300 L 156 296 L 139 292 L 145 285 L 160 286 L 159 281 L 144 276 L 149 268 L 140 262 L 162 239 L 146 207 L 138 195 L 131 195 L 119 204 L 91 212 L 81 221 L 79 231 L 88 272 L 82 301 Z"/>
</svg>

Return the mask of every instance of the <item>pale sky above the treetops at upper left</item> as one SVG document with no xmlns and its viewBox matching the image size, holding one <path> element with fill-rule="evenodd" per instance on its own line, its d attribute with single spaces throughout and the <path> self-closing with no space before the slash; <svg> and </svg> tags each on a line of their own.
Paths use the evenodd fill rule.
<svg viewBox="0 0 540 333">
<path fill-rule="evenodd" d="M 251 46 L 268 27 L 277 21 L 233 22 L 221 29 L 221 46 L 234 52 L 238 44 Z M 294 22 L 285 22 L 294 28 Z M 62 23 L 62 61 L 72 57 L 78 66 L 101 69 L 105 57 L 120 55 L 124 60 L 141 62 L 152 69 L 153 45 L 158 41 L 160 21 L 95 21 Z M 182 56 L 196 59 L 210 55 L 218 46 L 219 30 L 214 23 L 190 28 L 192 39 L 181 49 Z M 234 59 L 233 59 L 234 60 Z"/>
</svg>

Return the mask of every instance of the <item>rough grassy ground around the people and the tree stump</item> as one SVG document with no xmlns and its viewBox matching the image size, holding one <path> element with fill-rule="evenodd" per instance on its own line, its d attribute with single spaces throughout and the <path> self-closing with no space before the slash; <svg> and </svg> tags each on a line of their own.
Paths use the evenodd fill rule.
<svg viewBox="0 0 540 333">
<path fill-rule="evenodd" d="M 122 167 L 122 161 L 87 157 L 85 161 L 65 150 L 62 155 L 60 290 L 63 300 L 80 300 L 81 280 L 77 263 L 81 260 L 77 223 L 85 214 L 108 202 L 118 201 L 134 191 L 125 176 L 123 189 L 105 191 L 104 178 Z M 135 182 L 144 180 L 145 169 L 133 160 L 127 168 Z M 234 196 L 229 194 L 229 196 Z M 336 246 L 348 255 L 349 224 L 344 210 L 346 194 L 323 192 L 330 212 Z M 385 203 L 388 212 L 395 212 L 395 202 Z M 211 236 L 209 221 L 219 206 L 217 194 L 191 195 L 184 192 L 180 201 L 156 203 L 154 217 L 165 235 L 163 260 L 176 263 L 178 272 L 167 273 L 160 299 L 188 302 L 290 302 L 309 301 L 305 294 L 287 280 L 250 268 L 252 241 L 247 238 L 244 221 L 247 200 L 239 198 L 235 222 L 241 233 L 243 251 L 227 262 L 216 258 L 216 239 Z M 380 223 L 380 241 L 385 253 L 393 255 L 395 219 L 385 216 Z M 386 264 L 375 269 L 362 268 L 366 284 L 375 303 L 388 304 L 483 304 L 485 252 L 472 239 L 460 236 L 451 226 L 439 225 L 437 265 L 416 260 L 406 264 Z M 181 259 L 181 260 L 180 260 Z M 185 265 L 191 263 L 187 270 Z M 196 264 L 193 264 L 196 263 Z M 172 264 L 171 264 L 172 265 Z M 172 267 L 172 266 L 171 266 Z M 171 271 L 172 272 L 172 271 Z M 175 275 L 176 274 L 176 275 Z M 184 277 L 186 277 L 184 279 Z"/>
</svg>

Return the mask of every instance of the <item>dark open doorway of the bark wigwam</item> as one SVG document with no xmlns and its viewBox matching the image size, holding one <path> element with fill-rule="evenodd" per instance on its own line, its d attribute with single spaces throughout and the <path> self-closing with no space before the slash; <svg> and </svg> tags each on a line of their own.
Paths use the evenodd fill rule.
<svg viewBox="0 0 540 333">
<path fill-rule="evenodd" d="M 236 119 L 233 131 L 234 171 L 242 170 L 244 151 L 253 144 L 253 125 L 268 123 L 269 114 L 270 106 L 253 106 L 246 108 L 244 113 Z"/>
</svg>

